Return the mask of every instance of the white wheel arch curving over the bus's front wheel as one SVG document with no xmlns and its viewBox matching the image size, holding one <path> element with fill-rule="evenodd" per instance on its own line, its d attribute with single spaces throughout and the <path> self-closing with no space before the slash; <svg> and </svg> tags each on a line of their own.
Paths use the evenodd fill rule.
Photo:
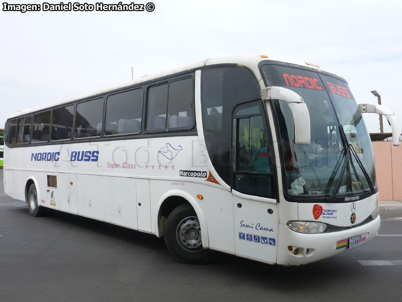
<svg viewBox="0 0 402 302">
<path fill-rule="evenodd" d="M 154 222 L 154 230 L 155 230 L 155 235 L 157 237 L 162 237 L 163 236 L 163 231 L 164 231 L 164 220 L 167 218 L 167 216 L 162 216 L 162 214 L 170 214 L 177 206 L 183 204 L 183 203 L 188 203 L 192 206 L 194 209 L 198 220 L 199 224 L 201 226 L 201 235 L 203 237 L 203 247 L 204 248 L 209 248 L 209 237 L 208 237 L 208 226 L 207 226 L 207 221 L 205 220 L 204 213 L 199 206 L 198 202 L 195 200 L 194 197 L 192 197 L 189 193 L 180 191 L 180 190 L 170 190 L 163 194 L 161 198 L 158 201 L 157 204 L 157 219 L 155 219 Z"/>
</svg>

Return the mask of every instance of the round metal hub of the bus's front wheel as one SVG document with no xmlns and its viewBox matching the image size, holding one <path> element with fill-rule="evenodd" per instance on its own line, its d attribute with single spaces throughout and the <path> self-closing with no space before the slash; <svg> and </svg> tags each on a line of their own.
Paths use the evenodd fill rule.
<svg viewBox="0 0 402 302">
<path fill-rule="evenodd" d="M 177 241 L 185 250 L 202 250 L 201 228 L 197 217 L 187 217 L 180 221 L 176 232 Z"/>
</svg>

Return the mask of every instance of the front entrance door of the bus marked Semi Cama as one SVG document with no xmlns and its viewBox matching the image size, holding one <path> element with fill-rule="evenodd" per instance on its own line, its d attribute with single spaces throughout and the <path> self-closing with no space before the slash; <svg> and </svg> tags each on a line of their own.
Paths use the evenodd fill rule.
<svg viewBox="0 0 402 302">
<path fill-rule="evenodd" d="M 233 178 L 236 255 L 276 262 L 278 224 L 269 129 L 262 102 L 233 113 Z"/>
</svg>

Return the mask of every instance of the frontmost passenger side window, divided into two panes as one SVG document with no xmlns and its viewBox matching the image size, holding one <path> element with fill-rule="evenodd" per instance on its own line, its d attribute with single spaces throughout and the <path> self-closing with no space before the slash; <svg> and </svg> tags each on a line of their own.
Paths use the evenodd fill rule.
<svg viewBox="0 0 402 302">
<path fill-rule="evenodd" d="M 189 128 L 194 124 L 193 80 L 169 82 L 149 89 L 147 130 Z"/>
</svg>

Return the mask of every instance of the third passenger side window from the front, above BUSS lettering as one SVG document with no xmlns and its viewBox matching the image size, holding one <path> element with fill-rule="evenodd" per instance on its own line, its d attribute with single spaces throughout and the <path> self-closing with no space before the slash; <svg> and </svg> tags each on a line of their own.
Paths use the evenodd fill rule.
<svg viewBox="0 0 402 302">
<path fill-rule="evenodd" d="M 103 128 L 103 115 L 103 98 L 77 104 L 74 137 L 100 136 Z"/>
</svg>

